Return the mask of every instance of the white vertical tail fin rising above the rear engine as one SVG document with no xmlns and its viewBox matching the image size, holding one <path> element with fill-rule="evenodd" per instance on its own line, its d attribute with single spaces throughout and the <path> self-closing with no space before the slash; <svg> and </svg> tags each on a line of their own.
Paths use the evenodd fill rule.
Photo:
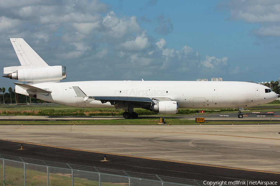
<svg viewBox="0 0 280 186">
<path fill-rule="evenodd" d="M 22 38 L 10 38 L 21 65 L 43 68 L 49 65 Z"/>
</svg>

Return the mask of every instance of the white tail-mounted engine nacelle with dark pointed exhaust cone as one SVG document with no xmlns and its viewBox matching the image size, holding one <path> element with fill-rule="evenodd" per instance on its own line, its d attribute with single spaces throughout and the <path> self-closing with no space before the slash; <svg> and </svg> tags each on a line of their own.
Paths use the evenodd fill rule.
<svg viewBox="0 0 280 186">
<path fill-rule="evenodd" d="M 17 79 L 20 82 L 57 81 L 66 78 L 65 66 L 48 66 L 37 69 L 18 69 L 3 77 Z"/>
</svg>

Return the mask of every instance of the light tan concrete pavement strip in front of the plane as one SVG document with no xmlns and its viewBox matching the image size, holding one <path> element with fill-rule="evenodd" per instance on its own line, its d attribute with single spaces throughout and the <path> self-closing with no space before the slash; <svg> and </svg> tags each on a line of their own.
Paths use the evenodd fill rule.
<svg viewBox="0 0 280 186">
<path fill-rule="evenodd" d="M 0 139 L 280 176 L 280 124 L 0 126 Z M 40 158 L 40 156 L 38 157 Z M 168 169 L 168 167 L 166 167 Z M 211 175 L 211 173 L 208 173 Z M 231 177 L 233 175 L 229 175 Z M 258 175 L 259 177 L 259 175 Z"/>
</svg>

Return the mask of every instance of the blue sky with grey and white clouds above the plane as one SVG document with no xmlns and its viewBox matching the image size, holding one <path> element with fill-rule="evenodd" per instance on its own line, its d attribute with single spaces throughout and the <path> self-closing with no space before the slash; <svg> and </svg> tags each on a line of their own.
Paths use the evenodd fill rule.
<svg viewBox="0 0 280 186">
<path fill-rule="evenodd" d="M 9 38 L 66 66 L 63 81 L 280 78 L 276 0 L 0 1 L 0 68 L 20 64 Z"/>
</svg>

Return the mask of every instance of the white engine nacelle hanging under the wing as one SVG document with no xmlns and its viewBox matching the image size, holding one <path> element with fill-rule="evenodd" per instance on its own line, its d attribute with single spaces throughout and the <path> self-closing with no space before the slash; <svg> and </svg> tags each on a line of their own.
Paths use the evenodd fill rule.
<svg viewBox="0 0 280 186">
<path fill-rule="evenodd" d="M 178 113 L 178 107 L 177 101 L 159 101 L 152 105 L 151 110 L 159 114 L 176 114 Z"/>
</svg>

